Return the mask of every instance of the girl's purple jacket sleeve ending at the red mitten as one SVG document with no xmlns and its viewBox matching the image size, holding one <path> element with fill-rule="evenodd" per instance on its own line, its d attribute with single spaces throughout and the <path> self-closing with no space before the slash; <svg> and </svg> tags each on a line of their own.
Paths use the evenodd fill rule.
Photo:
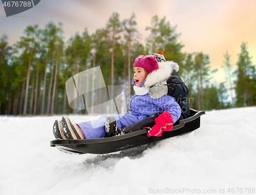
<svg viewBox="0 0 256 195">
<path fill-rule="evenodd" d="M 162 112 L 167 111 L 172 116 L 174 123 L 179 119 L 181 115 L 181 109 L 179 104 L 175 102 L 174 97 L 164 95 L 158 99 L 153 100 L 155 105 L 162 108 Z"/>
</svg>

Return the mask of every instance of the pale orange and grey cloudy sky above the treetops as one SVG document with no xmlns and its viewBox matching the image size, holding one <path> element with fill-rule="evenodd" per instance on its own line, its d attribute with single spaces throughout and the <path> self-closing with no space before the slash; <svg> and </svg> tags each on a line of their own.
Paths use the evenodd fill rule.
<svg viewBox="0 0 256 195">
<path fill-rule="evenodd" d="M 223 55 L 228 51 L 230 62 L 236 68 L 242 42 L 247 42 L 251 61 L 256 64 L 255 8 L 255 0 L 42 0 L 26 12 L 6 17 L 1 2 L 0 36 L 7 34 L 12 45 L 23 36 L 27 26 L 38 24 L 39 28 L 45 28 L 53 21 L 63 23 L 68 40 L 76 32 L 81 35 L 85 28 L 89 34 L 104 28 L 112 13 L 117 12 L 121 21 L 135 13 L 141 34 L 139 41 L 144 43 L 150 35 L 145 28 L 151 25 L 152 17 L 165 16 L 172 27 L 177 26 L 176 33 L 181 34 L 178 42 L 184 45 L 182 52 L 209 55 L 209 65 L 219 69 L 212 82 L 219 83 L 225 81 L 221 67 Z"/>
</svg>

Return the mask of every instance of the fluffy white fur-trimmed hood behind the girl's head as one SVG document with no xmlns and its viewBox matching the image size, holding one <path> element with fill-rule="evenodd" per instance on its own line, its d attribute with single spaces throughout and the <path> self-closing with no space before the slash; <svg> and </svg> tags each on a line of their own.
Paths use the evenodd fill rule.
<svg viewBox="0 0 256 195">
<path fill-rule="evenodd" d="M 173 71 L 179 70 L 179 65 L 173 61 L 158 62 L 159 68 L 152 71 L 146 77 L 144 87 L 151 87 L 157 83 L 167 80 Z"/>
</svg>

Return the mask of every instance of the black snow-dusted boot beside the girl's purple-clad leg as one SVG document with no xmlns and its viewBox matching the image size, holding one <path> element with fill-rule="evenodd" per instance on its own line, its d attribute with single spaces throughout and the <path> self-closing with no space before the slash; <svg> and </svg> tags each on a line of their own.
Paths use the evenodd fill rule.
<svg viewBox="0 0 256 195">
<path fill-rule="evenodd" d="M 116 127 L 116 119 L 114 116 L 106 117 L 104 131 L 106 133 L 106 137 L 123 135 L 127 133 L 127 131 L 122 129 L 120 130 Z"/>
</svg>

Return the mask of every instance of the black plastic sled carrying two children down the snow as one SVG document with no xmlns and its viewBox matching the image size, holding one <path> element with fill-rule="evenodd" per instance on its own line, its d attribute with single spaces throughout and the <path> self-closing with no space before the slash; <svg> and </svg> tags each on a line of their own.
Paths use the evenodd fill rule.
<svg viewBox="0 0 256 195">
<path fill-rule="evenodd" d="M 173 127 L 171 131 L 164 131 L 160 137 L 147 137 L 146 129 L 140 131 L 96 139 L 55 139 L 50 142 L 51 147 L 68 154 L 108 154 L 153 143 L 194 131 L 200 127 L 200 116 L 204 111 L 190 109 L 190 117 L 180 120 L 180 124 Z"/>
</svg>

